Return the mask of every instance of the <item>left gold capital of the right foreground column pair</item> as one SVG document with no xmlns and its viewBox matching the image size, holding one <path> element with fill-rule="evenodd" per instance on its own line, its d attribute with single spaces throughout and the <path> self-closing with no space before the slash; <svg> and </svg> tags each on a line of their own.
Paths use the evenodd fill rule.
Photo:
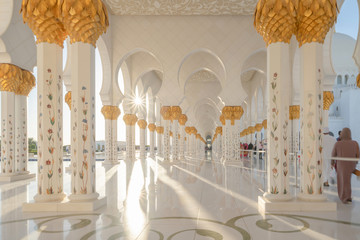
<svg viewBox="0 0 360 240">
<path fill-rule="evenodd" d="M 267 45 L 290 43 L 296 32 L 296 0 L 259 0 L 255 9 L 254 25 Z"/>
</svg>

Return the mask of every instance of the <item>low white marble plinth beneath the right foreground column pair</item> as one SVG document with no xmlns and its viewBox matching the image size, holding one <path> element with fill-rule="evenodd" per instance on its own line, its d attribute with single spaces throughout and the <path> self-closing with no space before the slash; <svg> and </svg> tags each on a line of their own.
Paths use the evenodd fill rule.
<svg viewBox="0 0 360 240">
<path fill-rule="evenodd" d="M 258 211 L 265 212 L 315 212 L 336 211 L 336 202 L 309 202 L 300 199 L 290 201 L 271 201 L 264 196 L 258 197 Z"/>
</svg>

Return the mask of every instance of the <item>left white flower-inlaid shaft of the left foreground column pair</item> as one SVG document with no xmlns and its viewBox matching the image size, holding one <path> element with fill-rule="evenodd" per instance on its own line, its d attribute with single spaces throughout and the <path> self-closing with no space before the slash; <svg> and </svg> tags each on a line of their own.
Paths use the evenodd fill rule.
<svg viewBox="0 0 360 240">
<path fill-rule="evenodd" d="M 63 192 L 62 48 L 37 45 L 38 192 L 35 202 L 61 201 Z"/>
</svg>

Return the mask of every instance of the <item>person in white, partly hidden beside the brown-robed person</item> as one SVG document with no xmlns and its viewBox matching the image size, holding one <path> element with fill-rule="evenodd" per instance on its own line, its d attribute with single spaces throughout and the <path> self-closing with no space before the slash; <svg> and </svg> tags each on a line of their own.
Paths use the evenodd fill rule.
<svg viewBox="0 0 360 240">
<path fill-rule="evenodd" d="M 323 128 L 323 151 L 324 151 L 324 160 L 323 160 L 323 176 L 324 176 L 324 186 L 329 186 L 330 172 L 332 170 L 331 166 L 331 152 L 336 143 L 336 139 L 330 136 L 330 131 L 328 127 Z"/>
</svg>

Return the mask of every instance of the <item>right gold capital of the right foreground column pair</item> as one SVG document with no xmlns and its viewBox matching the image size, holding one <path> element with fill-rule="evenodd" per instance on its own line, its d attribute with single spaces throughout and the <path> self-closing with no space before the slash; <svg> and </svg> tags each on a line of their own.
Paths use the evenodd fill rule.
<svg viewBox="0 0 360 240">
<path fill-rule="evenodd" d="M 297 9 L 296 39 L 305 43 L 324 43 L 337 18 L 336 0 L 301 0 Z"/>
</svg>

